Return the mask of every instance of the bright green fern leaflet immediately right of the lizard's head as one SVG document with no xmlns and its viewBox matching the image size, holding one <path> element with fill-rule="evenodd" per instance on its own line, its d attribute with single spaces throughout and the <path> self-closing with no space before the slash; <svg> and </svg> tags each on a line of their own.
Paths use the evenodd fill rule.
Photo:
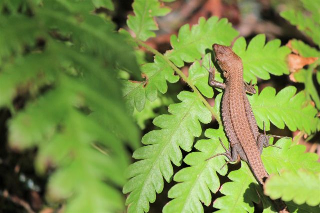
<svg viewBox="0 0 320 213">
<path fill-rule="evenodd" d="M 243 37 L 238 38 L 233 44 L 233 51 L 242 59 L 243 78 L 246 82 L 250 80 L 256 82 L 256 77 L 269 79 L 269 73 L 273 75 L 289 73 L 286 65 L 289 48 L 280 47 L 279 39 L 269 41 L 265 45 L 264 43 L 265 35 L 259 34 L 251 39 L 247 48 Z"/>
</svg>

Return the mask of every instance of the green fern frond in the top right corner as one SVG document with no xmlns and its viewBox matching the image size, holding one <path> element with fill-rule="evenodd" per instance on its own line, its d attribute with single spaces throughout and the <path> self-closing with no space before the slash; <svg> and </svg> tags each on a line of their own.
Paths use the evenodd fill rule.
<svg viewBox="0 0 320 213">
<path fill-rule="evenodd" d="M 311 12 L 310 16 L 304 15 L 302 11 L 286 10 L 280 15 L 288 20 L 292 25 L 310 36 L 314 43 L 320 46 L 320 1 L 301 0 L 303 7 Z"/>
</svg>

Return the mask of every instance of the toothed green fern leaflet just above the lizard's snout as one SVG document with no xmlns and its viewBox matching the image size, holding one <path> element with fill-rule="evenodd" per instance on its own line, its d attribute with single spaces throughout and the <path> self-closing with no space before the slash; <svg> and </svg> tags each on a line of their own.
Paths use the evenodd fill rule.
<svg viewBox="0 0 320 213">
<path fill-rule="evenodd" d="M 179 29 L 177 36 L 171 35 L 172 50 L 166 51 L 165 56 L 176 66 L 182 67 L 183 61 L 200 59 L 205 49 L 211 49 L 213 43 L 230 45 L 237 34 L 225 18 L 218 20 L 218 17 L 210 17 L 205 20 L 201 17 L 191 30 L 189 24 L 185 24 Z"/>
</svg>

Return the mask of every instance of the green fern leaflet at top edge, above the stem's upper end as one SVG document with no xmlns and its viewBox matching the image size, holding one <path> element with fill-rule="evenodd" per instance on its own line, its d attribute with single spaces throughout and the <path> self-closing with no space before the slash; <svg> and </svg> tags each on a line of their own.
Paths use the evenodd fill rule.
<svg viewBox="0 0 320 213">
<path fill-rule="evenodd" d="M 155 33 L 151 31 L 158 29 L 154 16 L 163 16 L 170 12 L 170 8 L 161 6 L 158 0 L 134 0 L 132 7 L 134 16 L 128 15 L 126 23 L 135 33 L 135 37 L 142 41 L 155 37 Z"/>
</svg>

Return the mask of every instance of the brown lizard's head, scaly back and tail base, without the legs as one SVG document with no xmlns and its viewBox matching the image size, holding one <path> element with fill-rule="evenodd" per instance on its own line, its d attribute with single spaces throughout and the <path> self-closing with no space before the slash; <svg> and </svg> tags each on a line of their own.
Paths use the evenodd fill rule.
<svg viewBox="0 0 320 213">
<path fill-rule="evenodd" d="M 222 50 L 218 48 L 223 48 Z M 243 65 L 230 47 L 214 47 L 216 58 L 226 78 L 222 97 L 222 120 L 231 147 L 240 144 L 240 158 L 249 166 L 260 184 L 268 177 L 256 144 L 257 126 L 243 87 Z M 219 54 L 219 52 L 221 52 Z M 232 60 L 228 60 L 228 59 Z"/>
</svg>

